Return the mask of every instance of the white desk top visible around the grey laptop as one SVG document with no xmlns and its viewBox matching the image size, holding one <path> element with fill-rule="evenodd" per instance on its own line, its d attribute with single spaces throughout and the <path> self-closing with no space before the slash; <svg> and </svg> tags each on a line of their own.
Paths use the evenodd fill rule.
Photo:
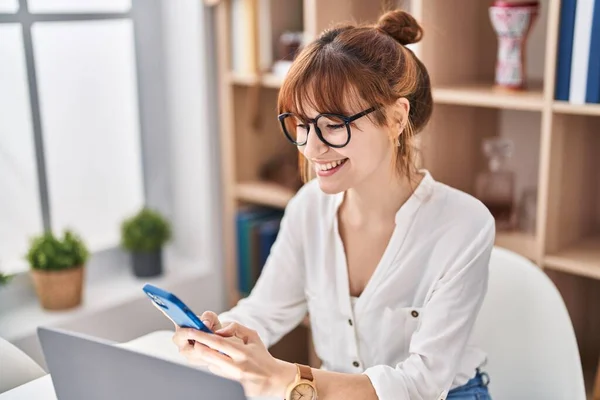
<svg viewBox="0 0 600 400">
<path fill-rule="evenodd" d="M 173 344 L 171 331 L 156 331 L 116 346 L 139 351 L 154 357 L 186 364 Z M 0 394 L 0 400 L 57 400 L 50 374 Z M 253 397 L 252 400 L 280 400 L 272 397 Z"/>
</svg>

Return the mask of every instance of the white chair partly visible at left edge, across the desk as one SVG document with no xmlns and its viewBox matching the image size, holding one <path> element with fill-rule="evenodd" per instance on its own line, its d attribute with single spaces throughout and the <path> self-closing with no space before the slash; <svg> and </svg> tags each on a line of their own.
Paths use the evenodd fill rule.
<svg viewBox="0 0 600 400">
<path fill-rule="evenodd" d="M 0 393 L 46 375 L 27 354 L 0 337 Z"/>
</svg>

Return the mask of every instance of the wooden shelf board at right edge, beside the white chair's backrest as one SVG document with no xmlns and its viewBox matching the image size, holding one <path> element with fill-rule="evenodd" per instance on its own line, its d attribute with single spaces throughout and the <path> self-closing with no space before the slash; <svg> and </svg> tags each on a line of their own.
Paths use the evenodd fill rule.
<svg viewBox="0 0 600 400">
<path fill-rule="evenodd" d="M 600 279 L 600 236 L 584 239 L 556 254 L 547 255 L 544 265 L 549 269 Z"/>
</svg>

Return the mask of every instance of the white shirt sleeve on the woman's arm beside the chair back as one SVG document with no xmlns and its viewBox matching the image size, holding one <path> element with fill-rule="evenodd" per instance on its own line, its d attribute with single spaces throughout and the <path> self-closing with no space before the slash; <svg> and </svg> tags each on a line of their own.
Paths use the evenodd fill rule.
<svg viewBox="0 0 600 400">
<path fill-rule="evenodd" d="M 380 400 L 446 398 L 487 292 L 494 220 L 473 236 L 428 296 L 409 357 L 395 367 L 376 365 L 364 371 Z"/>
</svg>

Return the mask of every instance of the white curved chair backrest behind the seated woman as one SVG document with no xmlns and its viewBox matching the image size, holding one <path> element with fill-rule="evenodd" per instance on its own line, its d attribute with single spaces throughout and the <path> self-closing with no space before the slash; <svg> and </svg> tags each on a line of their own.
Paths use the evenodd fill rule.
<svg viewBox="0 0 600 400">
<path fill-rule="evenodd" d="M 473 333 L 488 354 L 494 400 L 586 400 L 575 332 L 550 278 L 495 247 L 489 289 Z"/>
</svg>

